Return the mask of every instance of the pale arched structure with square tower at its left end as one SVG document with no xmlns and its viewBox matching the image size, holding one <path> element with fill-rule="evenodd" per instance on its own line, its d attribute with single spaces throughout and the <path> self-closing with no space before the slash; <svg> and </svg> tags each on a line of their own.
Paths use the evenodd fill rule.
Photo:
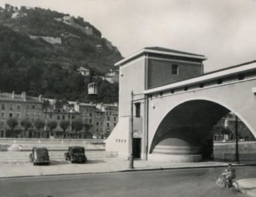
<svg viewBox="0 0 256 197">
<path fill-rule="evenodd" d="M 256 60 L 203 72 L 204 55 L 143 48 L 120 66 L 119 122 L 107 151 L 129 153 L 131 91 L 134 156 L 195 162 L 213 150 L 212 126 L 232 112 L 256 137 Z"/>
</svg>

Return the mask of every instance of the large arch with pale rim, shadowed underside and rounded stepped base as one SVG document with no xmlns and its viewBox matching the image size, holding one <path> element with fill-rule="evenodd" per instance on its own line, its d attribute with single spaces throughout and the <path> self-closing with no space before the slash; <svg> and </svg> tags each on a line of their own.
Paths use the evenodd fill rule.
<svg viewBox="0 0 256 197">
<path fill-rule="evenodd" d="M 213 150 L 212 126 L 230 111 L 255 135 L 243 115 L 228 104 L 208 97 L 190 97 L 163 113 L 150 145 L 150 157 L 181 161 L 208 158 Z"/>
</svg>

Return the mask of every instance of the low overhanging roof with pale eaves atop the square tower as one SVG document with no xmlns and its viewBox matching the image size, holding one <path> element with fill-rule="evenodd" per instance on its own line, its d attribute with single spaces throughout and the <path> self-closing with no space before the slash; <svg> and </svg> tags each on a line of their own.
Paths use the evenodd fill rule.
<svg viewBox="0 0 256 197">
<path fill-rule="evenodd" d="M 139 50 L 137 53 L 134 53 L 134 55 L 131 55 L 129 57 L 125 57 L 124 59 L 120 60 L 115 64 L 115 66 L 122 66 L 122 64 L 125 64 L 127 62 L 130 62 L 132 59 L 139 57 L 143 54 L 160 54 L 160 55 L 170 55 L 170 56 L 179 56 L 179 57 L 187 57 L 187 58 L 193 58 L 193 59 L 201 59 L 201 61 L 207 59 L 204 55 L 197 55 L 194 53 L 188 53 L 180 50 L 173 50 L 170 48 L 163 48 L 158 46 L 152 46 L 152 47 L 145 47 L 142 50 Z"/>
</svg>

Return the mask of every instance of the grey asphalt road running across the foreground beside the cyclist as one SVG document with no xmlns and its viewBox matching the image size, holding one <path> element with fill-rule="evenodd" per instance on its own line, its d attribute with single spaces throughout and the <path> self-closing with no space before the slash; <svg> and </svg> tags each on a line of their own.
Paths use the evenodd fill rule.
<svg viewBox="0 0 256 197">
<path fill-rule="evenodd" d="M 256 167 L 235 170 L 237 179 L 256 177 Z M 0 196 L 244 196 L 215 184 L 221 171 L 223 168 L 1 178 Z"/>
</svg>

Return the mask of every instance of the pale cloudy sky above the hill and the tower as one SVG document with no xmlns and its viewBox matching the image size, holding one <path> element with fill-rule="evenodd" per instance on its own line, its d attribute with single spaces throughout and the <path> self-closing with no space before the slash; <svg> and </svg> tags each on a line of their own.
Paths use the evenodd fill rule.
<svg viewBox="0 0 256 197">
<path fill-rule="evenodd" d="M 83 17 L 123 57 L 147 46 L 205 55 L 205 72 L 256 59 L 256 0 L 0 0 Z"/>
</svg>

